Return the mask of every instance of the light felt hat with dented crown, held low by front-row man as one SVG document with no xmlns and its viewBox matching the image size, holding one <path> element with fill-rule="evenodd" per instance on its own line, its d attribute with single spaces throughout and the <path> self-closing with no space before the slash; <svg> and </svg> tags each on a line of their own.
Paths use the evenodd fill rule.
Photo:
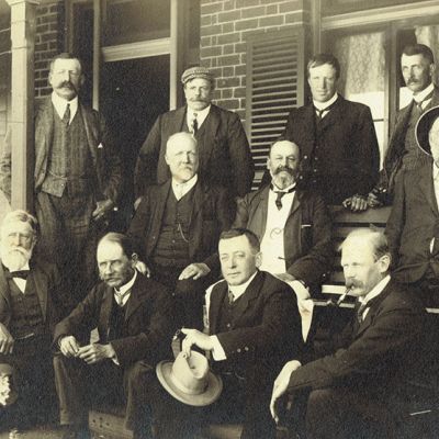
<svg viewBox="0 0 439 439">
<path fill-rule="evenodd" d="M 195 351 L 189 358 L 180 352 L 176 361 L 160 361 L 157 378 L 176 399 L 193 406 L 214 403 L 223 391 L 223 381 L 209 370 L 207 359 Z"/>
</svg>

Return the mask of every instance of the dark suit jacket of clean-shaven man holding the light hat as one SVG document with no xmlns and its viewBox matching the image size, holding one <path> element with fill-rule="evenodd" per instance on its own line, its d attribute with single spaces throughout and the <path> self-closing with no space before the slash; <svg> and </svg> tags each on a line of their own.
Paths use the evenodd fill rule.
<svg viewBox="0 0 439 439">
<path fill-rule="evenodd" d="M 238 299 L 230 330 L 218 333 L 227 291 L 227 282 L 218 282 L 211 292 L 209 307 L 210 334 L 217 336 L 227 361 L 264 365 L 275 373 L 289 354 L 302 356 L 301 316 L 295 294 L 286 283 L 259 271 Z"/>
</svg>

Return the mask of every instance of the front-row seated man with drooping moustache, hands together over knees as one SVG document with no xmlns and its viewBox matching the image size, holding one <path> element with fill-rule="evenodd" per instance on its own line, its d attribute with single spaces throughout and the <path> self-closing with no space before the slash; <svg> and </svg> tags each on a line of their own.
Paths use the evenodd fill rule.
<svg viewBox="0 0 439 439">
<path fill-rule="evenodd" d="M 103 282 L 55 328 L 60 424 L 66 438 L 88 438 L 91 402 L 117 404 L 124 389 L 126 427 L 134 439 L 150 438 L 148 389 L 155 386 L 156 363 L 171 354 L 171 301 L 164 286 L 135 270 L 137 255 L 126 236 L 105 235 L 97 259 Z M 98 342 L 80 339 L 95 327 Z"/>
</svg>

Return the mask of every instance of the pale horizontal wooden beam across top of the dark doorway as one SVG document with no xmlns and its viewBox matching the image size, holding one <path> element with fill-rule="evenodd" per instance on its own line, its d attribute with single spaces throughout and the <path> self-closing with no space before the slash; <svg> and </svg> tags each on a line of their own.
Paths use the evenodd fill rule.
<svg viewBox="0 0 439 439">
<path fill-rule="evenodd" d="M 104 63 L 125 59 L 147 58 L 150 56 L 170 54 L 170 38 L 158 38 L 138 43 L 121 44 L 102 47 Z"/>
</svg>

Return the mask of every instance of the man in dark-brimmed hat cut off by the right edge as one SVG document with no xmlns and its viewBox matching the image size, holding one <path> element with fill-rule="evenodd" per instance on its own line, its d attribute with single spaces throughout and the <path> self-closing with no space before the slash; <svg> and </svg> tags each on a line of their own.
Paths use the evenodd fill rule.
<svg viewBox="0 0 439 439">
<path fill-rule="evenodd" d="M 432 162 L 402 175 L 385 233 L 395 278 L 413 285 L 426 306 L 439 306 L 439 106 L 419 119 L 416 139 Z"/>
</svg>

